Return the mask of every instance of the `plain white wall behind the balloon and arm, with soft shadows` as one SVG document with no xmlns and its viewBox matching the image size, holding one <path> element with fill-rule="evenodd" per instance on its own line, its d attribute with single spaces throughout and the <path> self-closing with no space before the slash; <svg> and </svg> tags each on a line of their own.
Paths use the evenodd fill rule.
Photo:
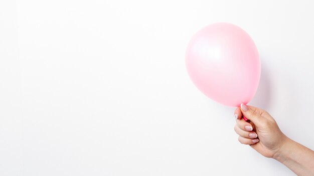
<svg viewBox="0 0 314 176">
<path fill-rule="evenodd" d="M 0 175 L 294 175 L 237 141 L 185 49 L 241 26 L 262 61 L 249 103 L 314 148 L 311 0 L 0 0 Z"/>
</svg>

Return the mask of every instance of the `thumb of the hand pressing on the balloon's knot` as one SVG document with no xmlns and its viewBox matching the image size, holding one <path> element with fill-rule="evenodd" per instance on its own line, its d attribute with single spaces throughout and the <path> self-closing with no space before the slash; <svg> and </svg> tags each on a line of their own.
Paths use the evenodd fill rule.
<svg viewBox="0 0 314 176">
<path fill-rule="evenodd" d="M 254 107 L 254 106 L 248 106 L 245 104 L 241 104 L 241 111 L 242 114 L 249 120 L 251 120 L 254 124 L 258 124 L 262 119 L 262 110 Z"/>
</svg>

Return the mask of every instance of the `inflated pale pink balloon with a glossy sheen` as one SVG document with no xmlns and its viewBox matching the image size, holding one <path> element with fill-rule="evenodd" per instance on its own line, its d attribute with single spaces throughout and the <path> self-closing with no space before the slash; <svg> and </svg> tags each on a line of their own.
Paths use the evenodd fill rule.
<svg viewBox="0 0 314 176">
<path fill-rule="evenodd" d="M 188 45 L 186 66 L 204 94 L 228 106 L 247 104 L 253 98 L 261 69 L 252 38 L 230 23 L 215 23 L 198 31 Z"/>
</svg>

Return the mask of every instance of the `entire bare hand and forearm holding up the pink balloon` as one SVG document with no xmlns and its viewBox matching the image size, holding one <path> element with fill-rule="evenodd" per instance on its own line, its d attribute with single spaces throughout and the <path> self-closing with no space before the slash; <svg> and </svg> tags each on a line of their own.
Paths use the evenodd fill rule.
<svg viewBox="0 0 314 176">
<path fill-rule="evenodd" d="M 245 121 L 242 115 L 250 121 Z M 242 144 L 278 160 L 297 175 L 314 175 L 314 151 L 284 135 L 267 111 L 241 104 L 241 108 L 235 109 L 235 117 L 234 130 Z"/>
</svg>

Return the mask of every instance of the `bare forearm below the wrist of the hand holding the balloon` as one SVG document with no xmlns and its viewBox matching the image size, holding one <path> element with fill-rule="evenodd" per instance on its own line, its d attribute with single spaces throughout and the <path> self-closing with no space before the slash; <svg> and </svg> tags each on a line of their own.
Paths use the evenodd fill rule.
<svg viewBox="0 0 314 176">
<path fill-rule="evenodd" d="M 286 138 L 274 159 L 286 165 L 300 176 L 314 175 L 314 151 Z"/>
</svg>

